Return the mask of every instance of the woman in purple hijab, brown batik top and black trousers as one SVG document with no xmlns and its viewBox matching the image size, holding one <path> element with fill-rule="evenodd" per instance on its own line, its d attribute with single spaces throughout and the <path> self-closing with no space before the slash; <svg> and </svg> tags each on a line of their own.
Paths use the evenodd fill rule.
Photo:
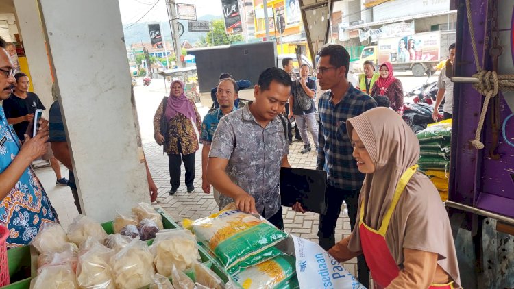
<svg viewBox="0 0 514 289">
<path fill-rule="evenodd" d="M 195 101 L 186 97 L 184 83 L 175 80 L 171 82 L 169 97 L 164 97 L 154 116 L 154 138 L 159 145 L 164 145 L 169 158 L 169 194 L 178 190 L 182 161 L 186 168 L 187 192 L 195 190 L 195 152 L 199 148 L 195 126 L 200 131 L 201 116 Z"/>
</svg>

